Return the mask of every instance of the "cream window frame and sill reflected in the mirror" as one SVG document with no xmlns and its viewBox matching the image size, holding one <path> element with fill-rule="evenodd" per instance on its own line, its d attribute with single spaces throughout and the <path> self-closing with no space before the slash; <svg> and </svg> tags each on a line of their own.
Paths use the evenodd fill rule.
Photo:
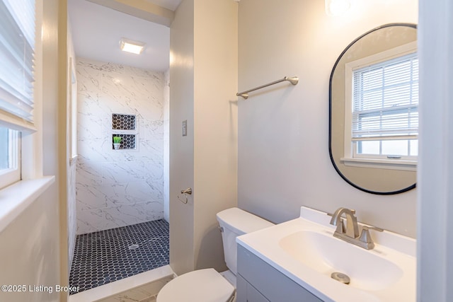
<svg viewBox="0 0 453 302">
<path fill-rule="evenodd" d="M 343 157 L 340 158 L 340 161 L 342 161 L 345 165 L 366 168 L 384 168 L 390 170 L 414 171 L 417 169 L 416 156 L 386 158 L 387 155 L 357 154 L 357 148 L 355 148 L 355 144 L 357 144 L 357 142 L 354 142 L 352 140 L 352 91 L 354 71 L 365 66 L 389 61 L 391 59 L 402 57 L 406 54 L 412 54 L 414 52 L 417 52 L 416 41 L 345 64 L 344 154 Z"/>
</svg>

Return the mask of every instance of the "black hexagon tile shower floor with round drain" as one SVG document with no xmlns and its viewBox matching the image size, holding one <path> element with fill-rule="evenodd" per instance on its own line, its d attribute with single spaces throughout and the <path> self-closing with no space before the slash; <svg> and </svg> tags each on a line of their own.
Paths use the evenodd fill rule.
<svg viewBox="0 0 453 302">
<path fill-rule="evenodd" d="M 169 250 L 164 219 L 79 235 L 69 284 L 86 291 L 168 265 Z"/>
</svg>

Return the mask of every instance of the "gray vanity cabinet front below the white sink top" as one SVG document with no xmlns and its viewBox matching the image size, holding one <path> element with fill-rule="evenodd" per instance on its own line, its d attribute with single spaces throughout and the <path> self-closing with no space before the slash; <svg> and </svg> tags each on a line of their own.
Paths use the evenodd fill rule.
<svg viewBox="0 0 453 302">
<path fill-rule="evenodd" d="M 322 302 L 241 245 L 236 290 L 237 302 Z"/>
</svg>

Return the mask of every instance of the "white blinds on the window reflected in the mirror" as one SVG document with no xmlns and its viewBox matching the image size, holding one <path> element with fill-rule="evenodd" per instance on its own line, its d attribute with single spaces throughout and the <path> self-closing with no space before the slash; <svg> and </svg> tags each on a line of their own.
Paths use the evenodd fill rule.
<svg viewBox="0 0 453 302">
<path fill-rule="evenodd" d="M 416 52 L 357 69 L 353 77 L 353 141 L 417 138 Z"/>
</svg>

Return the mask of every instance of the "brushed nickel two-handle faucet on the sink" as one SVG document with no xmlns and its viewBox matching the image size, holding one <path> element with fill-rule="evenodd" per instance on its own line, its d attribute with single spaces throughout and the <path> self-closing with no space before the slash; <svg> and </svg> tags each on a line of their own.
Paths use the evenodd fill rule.
<svg viewBox="0 0 453 302">
<path fill-rule="evenodd" d="M 346 228 L 343 223 L 343 218 L 341 217 L 343 214 L 346 216 Z M 333 237 L 340 238 L 367 250 L 372 250 L 372 248 L 374 248 L 374 242 L 369 235 L 368 230 L 384 231 L 382 228 L 364 226 L 362 228 L 362 233 L 360 233 L 359 236 L 359 225 L 357 223 L 357 217 L 355 216 L 355 210 L 346 208 L 339 208 L 333 213 L 331 224 L 337 227 L 333 233 Z"/>
</svg>

